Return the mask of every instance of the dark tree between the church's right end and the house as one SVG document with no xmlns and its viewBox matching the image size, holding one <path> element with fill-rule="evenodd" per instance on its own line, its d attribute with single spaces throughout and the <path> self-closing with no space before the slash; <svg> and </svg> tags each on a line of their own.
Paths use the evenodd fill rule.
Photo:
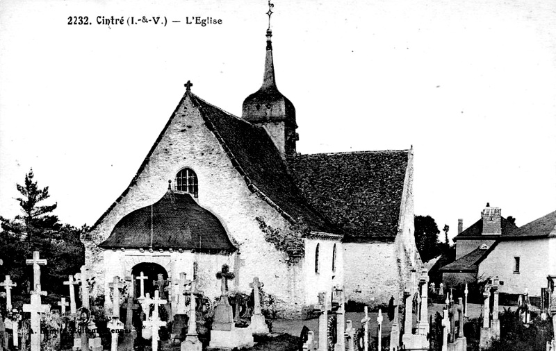
<svg viewBox="0 0 556 351">
<path fill-rule="evenodd" d="M 431 216 L 415 216 L 415 243 L 421 260 L 427 262 L 441 255 L 443 246 L 438 239 L 440 230 Z"/>
</svg>

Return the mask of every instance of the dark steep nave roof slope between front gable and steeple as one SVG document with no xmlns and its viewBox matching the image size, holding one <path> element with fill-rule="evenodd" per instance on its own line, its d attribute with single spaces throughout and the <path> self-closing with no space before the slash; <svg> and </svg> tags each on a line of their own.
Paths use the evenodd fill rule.
<svg viewBox="0 0 556 351">
<path fill-rule="evenodd" d="M 224 112 L 195 94 L 190 94 L 190 98 L 254 194 L 261 196 L 286 219 L 304 223 L 312 231 L 343 234 L 309 204 L 262 127 Z"/>
</svg>

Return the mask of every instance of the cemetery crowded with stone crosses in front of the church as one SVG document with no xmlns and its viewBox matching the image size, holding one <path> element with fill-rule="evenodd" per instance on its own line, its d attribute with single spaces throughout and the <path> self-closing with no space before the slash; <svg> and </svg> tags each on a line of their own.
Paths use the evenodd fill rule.
<svg viewBox="0 0 556 351">
<path fill-rule="evenodd" d="M 162 277 L 152 280 L 141 273 L 114 277 L 106 297 L 113 308 L 104 314 L 91 305 L 92 277 L 85 267 L 63 282 L 69 289 L 67 298 L 51 306 L 42 302 L 48 292 L 41 288 L 40 273 L 47 260 L 35 251 L 26 264 L 33 269 L 34 289 L 22 309 L 13 308 L 10 290 L 16 284 L 10 276 L 0 283 L 2 350 L 464 351 L 507 349 L 507 345 L 501 348 L 505 337 L 523 350 L 540 350 L 533 344 L 542 350 L 556 346 L 554 277 L 547 278 L 541 305 L 533 307 L 524 291 L 512 311 L 499 305 L 498 277 L 484 282 L 482 305 L 470 304 L 467 286 L 464 291 L 436 289 L 423 268 L 418 284 L 392 297 L 384 311 L 370 311 L 366 305 L 363 311 L 346 311 L 345 293 L 335 286 L 319 293 L 316 318 L 279 320 L 266 313 L 264 284 L 258 278 L 250 284 L 251 296 L 241 300 L 230 295 L 234 272 L 225 264 L 214 275 L 214 284 L 220 285 L 220 297 L 214 302 L 197 289 L 197 277 L 181 274 L 172 290 Z M 411 275 L 417 278 L 416 271 Z M 145 293 L 146 282 L 155 286 L 153 296 Z M 138 298 L 133 297 L 136 287 Z"/>
</svg>

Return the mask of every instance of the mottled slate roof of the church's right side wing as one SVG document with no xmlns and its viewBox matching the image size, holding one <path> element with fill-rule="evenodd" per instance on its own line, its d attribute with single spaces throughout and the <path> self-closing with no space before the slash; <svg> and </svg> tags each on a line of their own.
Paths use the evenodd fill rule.
<svg viewBox="0 0 556 351">
<path fill-rule="evenodd" d="M 290 160 L 309 203 L 347 233 L 344 241 L 391 241 L 411 151 L 300 155 Z"/>
</svg>

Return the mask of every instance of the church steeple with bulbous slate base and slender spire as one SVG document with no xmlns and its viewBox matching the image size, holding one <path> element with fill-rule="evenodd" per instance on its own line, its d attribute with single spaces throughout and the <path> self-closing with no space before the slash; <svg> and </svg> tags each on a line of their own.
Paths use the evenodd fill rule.
<svg viewBox="0 0 556 351">
<path fill-rule="evenodd" d="M 295 154 L 297 123 L 293 103 L 282 95 L 276 86 L 274 62 L 272 60 L 272 31 L 270 15 L 272 4 L 269 1 L 269 27 L 266 31 L 266 55 L 261 88 L 247 96 L 243 101 L 242 118 L 265 128 L 282 157 Z"/>
</svg>

